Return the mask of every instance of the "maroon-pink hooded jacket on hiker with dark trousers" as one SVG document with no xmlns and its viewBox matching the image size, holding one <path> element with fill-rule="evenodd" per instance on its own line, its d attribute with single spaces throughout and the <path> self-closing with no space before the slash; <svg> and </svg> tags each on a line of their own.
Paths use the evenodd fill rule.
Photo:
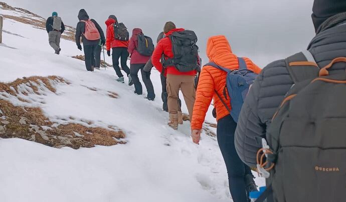
<svg viewBox="0 0 346 202">
<path fill-rule="evenodd" d="M 140 33 L 143 34 L 142 29 L 140 28 L 134 28 L 132 30 L 132 36 L 130 38 L 130 43 L 128 44 L 127 48 L 127 51 L 130 53 L 131 56 L 130 64 L 145 64 L 150 59 L 150 56 L 141 55 L 136 50 L 138 45 L 137 36 Z"/>
</svg>

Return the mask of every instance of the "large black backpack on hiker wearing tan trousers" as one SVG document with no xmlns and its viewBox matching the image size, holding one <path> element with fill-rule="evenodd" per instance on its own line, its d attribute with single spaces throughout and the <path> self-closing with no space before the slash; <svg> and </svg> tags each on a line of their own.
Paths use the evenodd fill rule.
<svg viewBox="0 0 346 202">
<path fill-rule="evenodd" d="M 163 66 L 175 66 L 181 72 L 198 68 L 197 35 L 194 31 L 176 31 L 168 36 L 172 42 L 173 58 L 164 61 Z"/>
</svg>

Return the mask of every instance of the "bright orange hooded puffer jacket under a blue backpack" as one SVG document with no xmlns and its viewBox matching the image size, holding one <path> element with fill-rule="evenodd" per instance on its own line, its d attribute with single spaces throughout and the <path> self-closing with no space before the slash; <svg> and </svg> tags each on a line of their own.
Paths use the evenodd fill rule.
<svg viewBox="0 0 346 202">
<path fill-rule="evenodd" d="M 231 46 L 224 35 L 212 36 L 207 43 L 207 56 L 211 62 L 229 68 L 238 69 L 239 62 L 237 55 L 232 53 Z M 243 57 L 247 67 L 259 73 L 261 69 L 253 63 L 249 58 Z M 193 119 L 191 122 L 192 129 L 201 129 L 206 117 L 209 105 L 214 98 L 214 107 L 217 112 L 217 120 L 227 116 L 229 111 L 219 99 L 215 90 L 223 97 L 223 90 L 226 86 L 226 72 L 219 70 L 213 66 L 205 66 L 202 68 L 200 80 L 196 92 L 196 102 L 194 106 Z M 228 92 L 226 93 L 228 96 Z M 229 97 L 224 100 L 231 108 Z"/>
</svg>

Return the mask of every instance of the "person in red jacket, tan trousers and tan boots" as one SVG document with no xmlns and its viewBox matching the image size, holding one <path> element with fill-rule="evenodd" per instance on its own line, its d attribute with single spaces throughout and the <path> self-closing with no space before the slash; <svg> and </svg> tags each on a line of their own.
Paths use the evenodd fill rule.
<svg viewBox="0 0 346 202">
<path fill-rule="evenodd" d="M 176 28 L 176 25 L 168 21 L 163 27 L 163 32 L 166 36 L 174 32 L 184 31 L 183 28 Z M 172 42 L 169 37 L 162 38 L 156 45 L 154 52 L 151 56 L 151 62 L 155 68 L 162 72 L 163 66 L 160 62 L 161 56 L 164 55 L 164 59 L 174 58 L 172 51 Z M 197 58 L 196 58 L 197 59 Z M 185 103 L 188 107 L 190 119 L 192 118 L 192 112 L 195 104 L 195 75 L 196 70 L 187 72 L 179 71 L 175 66 L 165 66 L 164 76 L 167 78 L 167 93 L 168 93 L 168 111 L 170 122 L 168 125 L 174 129 L 178 129 L 178 94 L 181 89 L 184 95 Z"/>
</svg>

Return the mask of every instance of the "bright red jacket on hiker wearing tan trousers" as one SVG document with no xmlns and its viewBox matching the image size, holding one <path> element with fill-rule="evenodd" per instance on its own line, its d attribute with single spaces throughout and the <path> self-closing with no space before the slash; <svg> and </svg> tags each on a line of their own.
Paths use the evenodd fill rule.
<svg viewBox="0 0 346 202">
<path fill-rule="evenodd" d="M 183 29 L 183 28 L 172 29 L 172 30 L 168 31 L 165 35 L 169 36 L 173 32 L 184 31 L 184 30 L 185 29 Z M 158 43 L 155 47 L 155 50 L 151 56 L 152 64 L 160 72 L 162 72 L 162 68 L 163 68 L 162 63 L 160 62 L 160 58 L 161 58 L 162 54 L 164 55 L 165 59 L 174 57 L 174 54 L 172 51 L 172 42 L 170 41 L 169 37 L 164 37 L 160 41 L 158 41 Z M 167 66 L 166 71 L 165 71 L 165 75 L 167 75 L 167 74 L 195 76 L 197 74 L 197 71 L 193 70 L 193 71 L 188 71 L 188 72 L 181 72 L 174 66 Z"/>
</svg>

